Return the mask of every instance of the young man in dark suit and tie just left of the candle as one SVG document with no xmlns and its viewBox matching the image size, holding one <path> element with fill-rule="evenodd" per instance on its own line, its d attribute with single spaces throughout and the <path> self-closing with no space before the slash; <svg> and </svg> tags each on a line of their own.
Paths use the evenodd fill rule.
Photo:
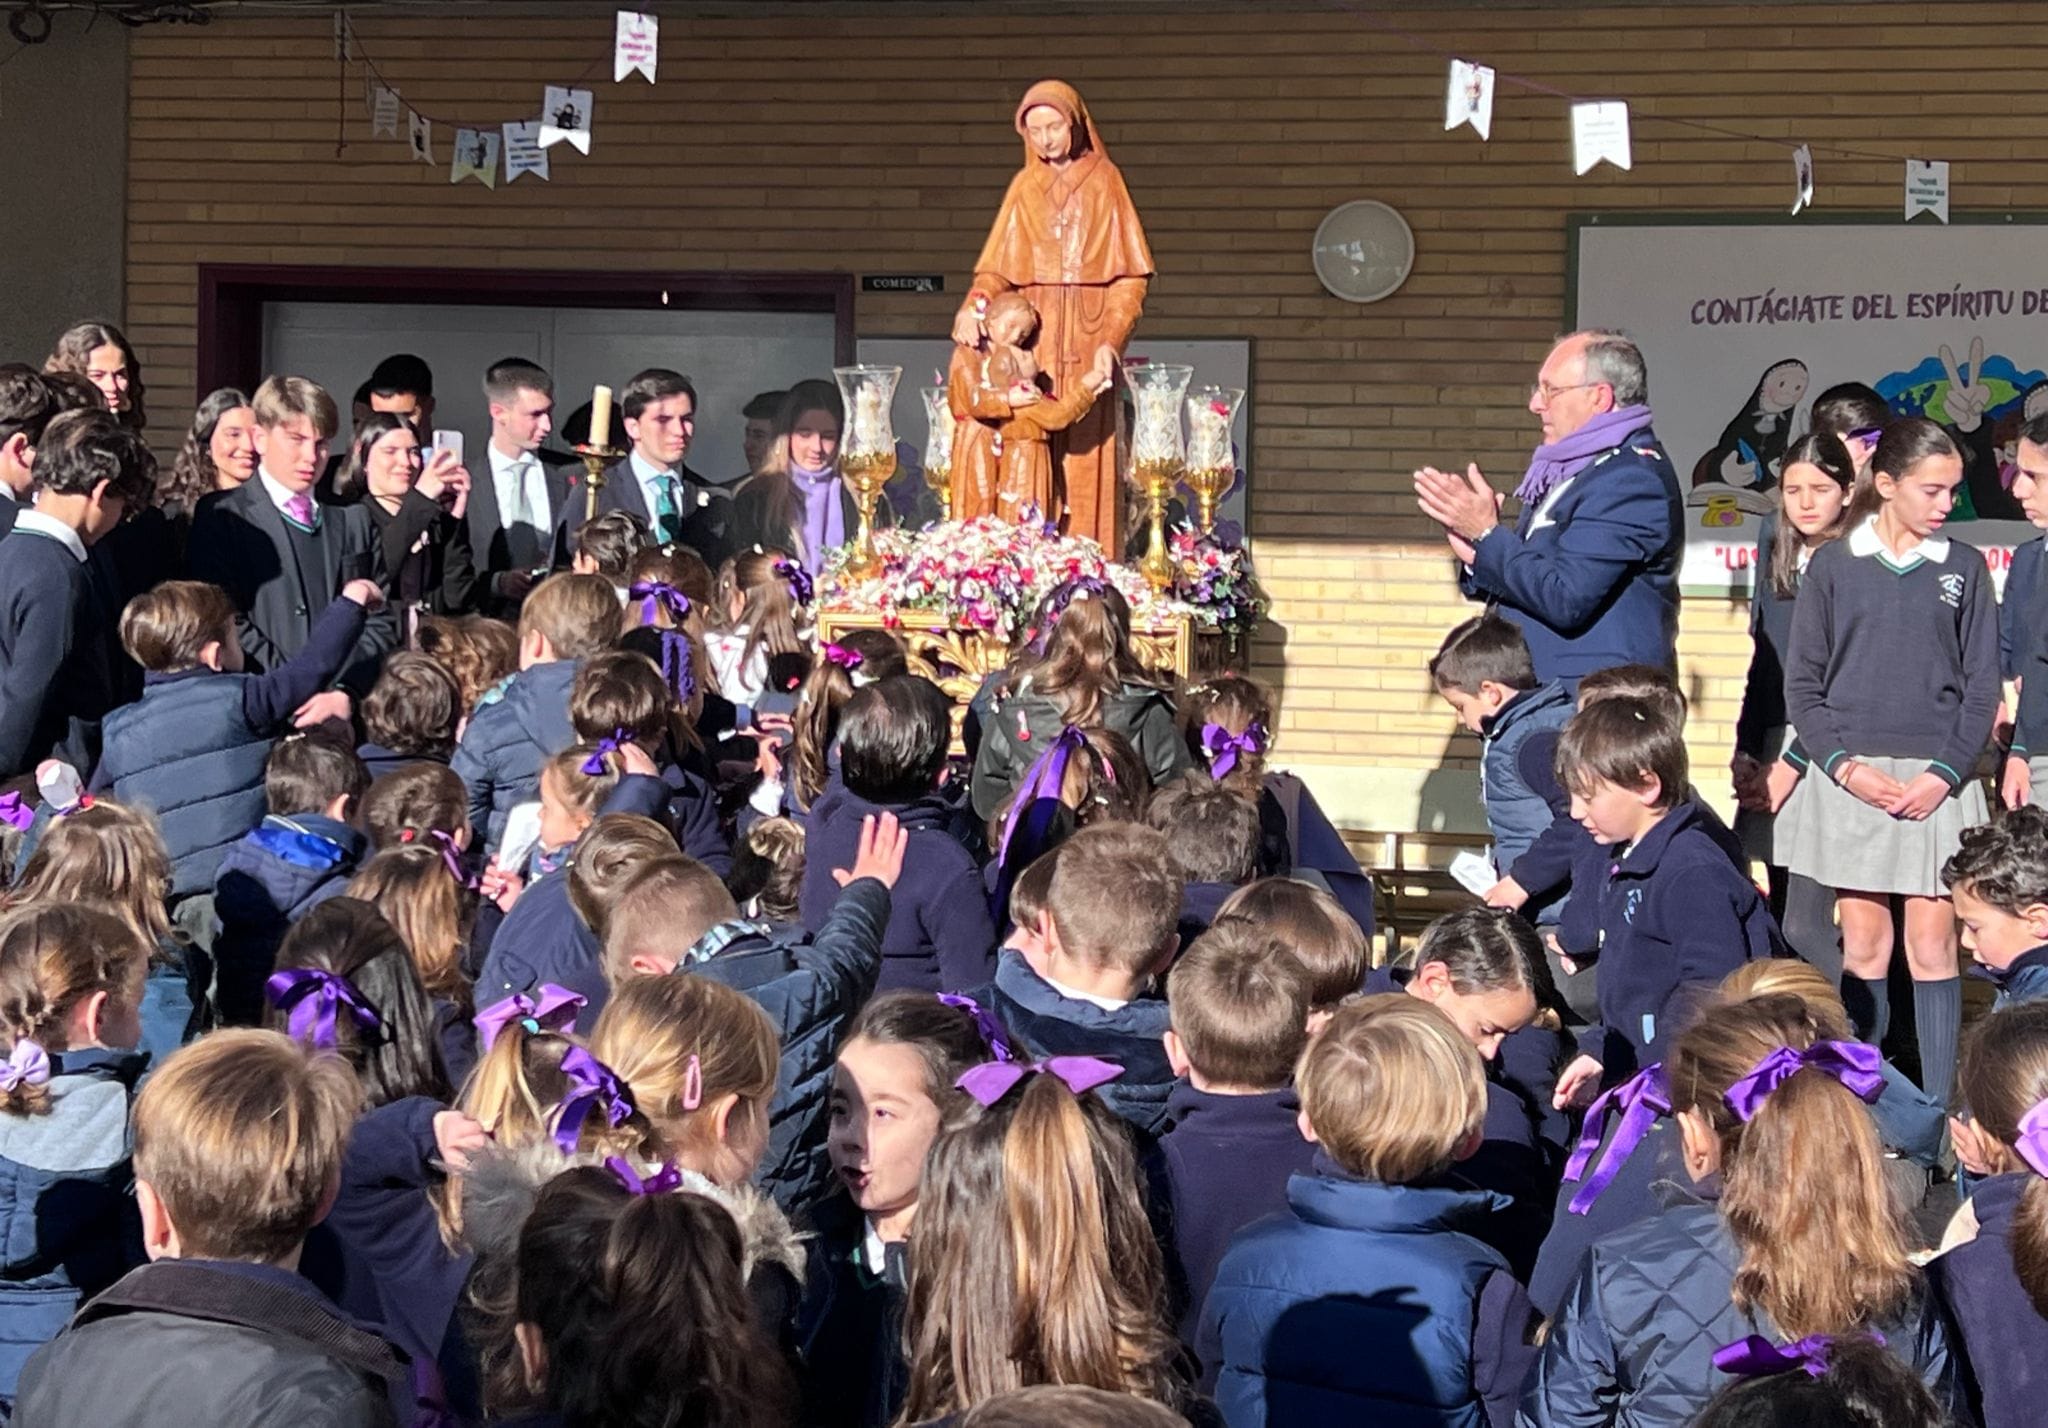
<svg viewBox="0 0 2048 1428">
<path fill-rule="evenodd" d="M 582 500 L 584 492 L 573 479 L 575 461 L 541 449 L 555 430 L 555 379 L 545 367 L 524 356 L 492 363 L 483 400 L 492 434 L 483 461 L 469 467 L 477 475 L 469 486 L 469 547 L 487 586 L 485 608 L 508 615 L 535 586 L 537 570 L 565 563 L 555 529 L 571 510 L 571 494 Z"/>
</svg>

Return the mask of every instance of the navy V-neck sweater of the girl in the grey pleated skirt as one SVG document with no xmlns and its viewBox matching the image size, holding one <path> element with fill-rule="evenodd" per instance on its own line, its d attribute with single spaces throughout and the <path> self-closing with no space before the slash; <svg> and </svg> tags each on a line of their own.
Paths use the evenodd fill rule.
<svg viewBox="0 0 2048 1428">
<path fill-rule="evenodd" d="M 1903 559 L 1876 516 L 1815 551 L 1792 611 L 1786 711 L 1821 772 L 1927 760 L 1956 789 L 1999 707 L 1999 621 L 1982 551 L 1933 537 Z"/>
</svg>

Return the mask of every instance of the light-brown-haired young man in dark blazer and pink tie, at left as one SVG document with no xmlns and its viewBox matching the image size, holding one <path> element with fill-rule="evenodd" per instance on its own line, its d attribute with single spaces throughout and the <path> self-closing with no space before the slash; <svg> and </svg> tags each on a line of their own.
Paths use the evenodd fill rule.
<svg viewBox="0 0 2048 1428">
<path fill-rule="evenodd" d="M 256 475 L 205 502 L 193 518 L 193 580 L 227 592 L 250 672 L 283 666 L 305 647 L 313 621 L 350 580 L 385 584 L 383 553 L 362 506 L 319 506 L 313 486 L 334 438 L 336 410 L 305 377 L 268 377 L 256 389 Z M 336 678 L 301 723 L 350 713 L 397 645 L 391 606 L 371 611 Z"/>
</svg>

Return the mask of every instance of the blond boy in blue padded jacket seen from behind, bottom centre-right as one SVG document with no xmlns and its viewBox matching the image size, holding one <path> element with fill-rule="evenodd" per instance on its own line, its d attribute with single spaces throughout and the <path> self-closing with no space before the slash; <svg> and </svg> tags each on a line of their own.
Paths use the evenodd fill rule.
<svg viewBox="0 0 2048 1428">
<path fill-rule="evenodd" d="M 1196 1352 L 1221 1367 L 1223 1416 L 1423 1422 L 1427 1393 L 1438 1422 L 1511 1424 L 1528 1295 L 1470 1233 L 1497 1196 L 1436 1184 L 1481 1141 L 1479 1053 L 1434 1006 L 1368 996 L 1337 1008 L 1294 1080 L 1329 1164 L 1288 1180 L 1290 1215 L 1239 1233 L 1217 1270 Z M 1360 1354 L 1374 1342 L 1415 1352 Z"/>
</svg>

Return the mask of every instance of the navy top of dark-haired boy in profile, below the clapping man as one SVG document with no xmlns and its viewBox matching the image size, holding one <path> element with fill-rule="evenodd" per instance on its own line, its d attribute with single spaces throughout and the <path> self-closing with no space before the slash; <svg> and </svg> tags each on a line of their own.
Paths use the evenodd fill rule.
<svg viewBox="0 0 2048 1428">
<path fill-rule="evenodd" d="M 1608 865 L 1599 887 L 1599 1026 L 1579 1049 L 1608 1080 L 1661 1061 L 1696 1004 L 1745 961 L 1786 955 L 1757 885 L 1679 803 Z"/>
</svg>

